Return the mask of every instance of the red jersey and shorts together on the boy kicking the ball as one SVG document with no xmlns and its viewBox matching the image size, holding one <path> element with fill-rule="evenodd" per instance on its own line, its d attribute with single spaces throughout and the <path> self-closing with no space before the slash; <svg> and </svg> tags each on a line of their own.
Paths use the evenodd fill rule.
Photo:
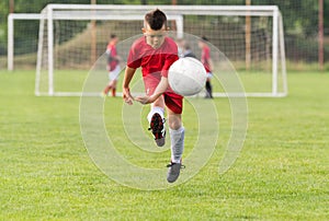
<svg viewBox="0 0 329 221">
<path fill-rule="evenodd" d="M 166 37 L 159 48 L 152 48 L 146 43 L 145 36 L 138 38 L 132 46 L 127 66 L 133 69 L 141 67 L 143 80 L 147 95 L 154 94 L 161 77 L 168 78 L 170 66 L 179 59 L 175 42 Z M 166 105 L 177 114 L 182 113 L 183 97 L 170 88 L 163 93 Z"/>
</svg>

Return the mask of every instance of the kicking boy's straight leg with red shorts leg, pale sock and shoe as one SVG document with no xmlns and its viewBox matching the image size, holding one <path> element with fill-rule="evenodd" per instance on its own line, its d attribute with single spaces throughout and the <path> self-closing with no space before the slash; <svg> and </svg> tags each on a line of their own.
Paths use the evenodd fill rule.
<svg viewBox="0 0 329 221">
<path fill-rule="evenodd" d="M 171 140 L 171 162 L 168 165 L 167 181 L 173 183 L 180 175 L 182 155 L 184 151 L 185 129 L 182 125 L 183 98 L 177 95 L 164 94 L 164 102 L 168 107 L 168 125 Z"/>
</svg>

